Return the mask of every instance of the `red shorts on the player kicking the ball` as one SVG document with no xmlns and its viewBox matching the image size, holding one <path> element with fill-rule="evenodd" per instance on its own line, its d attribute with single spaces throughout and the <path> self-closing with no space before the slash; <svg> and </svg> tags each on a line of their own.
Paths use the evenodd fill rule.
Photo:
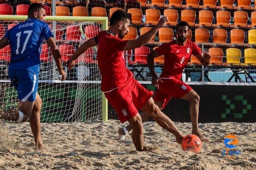
<svg viewBox="0 0 256 170">
<path fill-rule="evenodd" d="M 104 94 L 121 123 L 124 123 L 137 115 L 137 109 L 141 109 L 150 100 L 153 91 L 145 89 L 137 80 L 132 79 L 127 86 Z"/>
</svg>

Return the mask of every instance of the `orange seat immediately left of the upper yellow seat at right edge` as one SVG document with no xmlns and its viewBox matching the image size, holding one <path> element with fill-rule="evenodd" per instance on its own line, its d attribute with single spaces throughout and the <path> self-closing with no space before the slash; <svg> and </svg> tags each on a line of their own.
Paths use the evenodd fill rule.
<svg viewBox="0 0 256 170">
<path fill-rule="evenodd" d="M 230 43 L 241 45 L 241 46 L 247 46 L 248 44 L 244 44 L 245 40 L 245 32 L 244 30 L 240 29 L 233 29 L 230 31 Z"/>
</svg>

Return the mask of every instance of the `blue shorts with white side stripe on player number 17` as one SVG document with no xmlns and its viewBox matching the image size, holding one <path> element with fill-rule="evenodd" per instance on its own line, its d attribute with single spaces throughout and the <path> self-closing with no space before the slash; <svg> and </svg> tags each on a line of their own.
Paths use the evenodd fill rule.
<svg viewBox="0 0 256 170">
<path fill-rule="evenodd" d="M 18 99 L 20 101 L 35 101 L 38 87 L 38 74 L 26 70 L 9 70 L 9 79 L 17 89 Z"/>
</svg>

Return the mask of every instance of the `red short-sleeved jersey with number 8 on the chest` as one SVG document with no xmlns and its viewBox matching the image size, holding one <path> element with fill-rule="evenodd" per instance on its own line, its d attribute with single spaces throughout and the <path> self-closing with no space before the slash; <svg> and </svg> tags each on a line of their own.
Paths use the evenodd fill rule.
<svg viewBox="0 0 256 170">
<path fill-rule="evenodd" d="M 164 68 L 161 78 L 174 77 L 180 80 L 182 71 L 189 62 L 191 55 L 200 55 L 200 48 L 191 40 L 186 40 L 186 44 L 179 45 L 177 40 L 164 43 L 156 49 L 158 55 L 164 55 Z"/>
</svg>

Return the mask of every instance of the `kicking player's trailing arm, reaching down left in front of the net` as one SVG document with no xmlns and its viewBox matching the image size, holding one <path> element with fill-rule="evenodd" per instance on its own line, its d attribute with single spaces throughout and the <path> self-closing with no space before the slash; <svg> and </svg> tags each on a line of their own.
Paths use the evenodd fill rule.
<svg viewBox="0 0 256 170">
<path fill-rule="evenodd" d="M 97 44 L 95 43 L 98 42 L 98 36 L 95 36 L 94 38 L 89 39 L 88 41 L 85 41 L 78 49 L 76 52 L 70 57 L 69 61 L 67 62 L 67 70 L 70 70 L 74 65 L 75 65 L 75 60 L 82 54 L 85 53 L 89 48 L 96 46 Z"/>
</svg>

